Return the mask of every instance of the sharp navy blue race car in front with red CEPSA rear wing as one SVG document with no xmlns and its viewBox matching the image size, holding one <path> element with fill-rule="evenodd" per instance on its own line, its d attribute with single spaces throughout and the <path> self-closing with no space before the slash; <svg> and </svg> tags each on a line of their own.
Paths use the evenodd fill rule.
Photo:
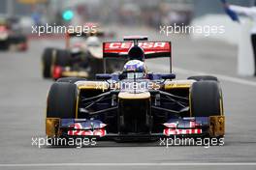
<svg viewBox="0 0 256 170">
<path fill-rule="evenodd" d="M 213 76 L 175 80 L 171 42 L 104 42 L 104 59 L 124 57 L 123 71 L 97 80 L 60 78 L 48 92 L 46 135 L 140 140 L 170 136 L 223 137 L 220 84 Z M 148 72 L 144 59 L 170 58 L 170 73 Z"/>
</svg>

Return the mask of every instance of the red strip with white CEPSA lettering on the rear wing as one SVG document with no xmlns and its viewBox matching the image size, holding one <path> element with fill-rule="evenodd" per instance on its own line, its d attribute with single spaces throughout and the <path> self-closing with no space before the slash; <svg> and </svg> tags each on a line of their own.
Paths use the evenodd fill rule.
<svg viewBox="0 0 256 170">
<path fill-rule="evenodd" d="M 118 48 L 130 48 L 134 45 L 134 42 L 110 42 L 106 44 L 106 48 L 118 49 Z M 169 46 L 169 42 L 139 42 L 139 46 L 144 49 L 148 48 L 166 48 Z"/>
</svg>

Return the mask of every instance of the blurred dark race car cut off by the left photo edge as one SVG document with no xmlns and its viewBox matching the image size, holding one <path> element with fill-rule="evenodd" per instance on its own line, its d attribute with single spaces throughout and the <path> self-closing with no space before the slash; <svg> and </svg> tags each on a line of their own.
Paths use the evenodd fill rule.
<svg viewBox="0 0 256 170">
<path fill-rule="evenodd" d="M 27 38 L 15 28 L 15 18 L 0 18 L 0 49 L 27 50 Z"/>
</svg>

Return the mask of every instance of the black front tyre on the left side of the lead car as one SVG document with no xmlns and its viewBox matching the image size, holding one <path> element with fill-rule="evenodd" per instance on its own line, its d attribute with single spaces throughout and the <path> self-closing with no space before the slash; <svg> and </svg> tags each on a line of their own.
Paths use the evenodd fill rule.
<svg viewBox="0 0 256 170">
<path fill-rule="evenodd" d="M 55 82 L 48 93 L 48 118 L 76 118 L 78 89 L 76 84 Z"/>
</svg>

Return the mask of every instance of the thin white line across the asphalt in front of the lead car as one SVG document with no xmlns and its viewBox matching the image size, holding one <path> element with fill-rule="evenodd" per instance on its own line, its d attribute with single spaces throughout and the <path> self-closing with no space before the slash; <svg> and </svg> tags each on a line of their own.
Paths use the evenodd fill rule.
<svg viewBox="0 0 256 170">
<path fill-rule="evenodd" d="M 0 164 L 0 167 L 52 167 L 52 166 L 256 166 L 256 162 L 215 163 L 17 163 Z"/>
</svg>

